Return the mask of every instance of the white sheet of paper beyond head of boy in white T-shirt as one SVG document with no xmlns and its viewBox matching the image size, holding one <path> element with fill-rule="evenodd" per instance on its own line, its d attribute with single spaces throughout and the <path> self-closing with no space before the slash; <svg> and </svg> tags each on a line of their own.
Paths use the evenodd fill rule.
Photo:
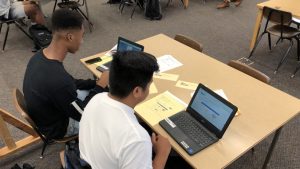
<svg viewBox="0 0 300 169">
<path fill-rule="evenodd" d="M 159 72 L 165 72 L 183 65 L 171 55 L 163 55 L 157 58 L 157 63 L 159 65 Z"/>
</svg>

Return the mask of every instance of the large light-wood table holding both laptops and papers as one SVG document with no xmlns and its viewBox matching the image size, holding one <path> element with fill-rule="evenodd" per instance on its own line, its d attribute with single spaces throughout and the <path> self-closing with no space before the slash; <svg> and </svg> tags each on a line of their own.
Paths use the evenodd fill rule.
<svg viewBox="0 0 300 169">
<path fill-rule="evenodd" d="M 167 71 L 167 73 L 179 74 L 179 80 L 203 83 L 213 90 L 223 89 L 229 101 L 239 108 L 241 114 L 234 117 L 223 138 L 193 156 L 189 156 L 158 124 L 151 126 L 155 132 L 168 137 L 172 147 L 191 166 L 199 169 L 224 168 L 276 131 L 273 146 L 266 160 L 267 164 L 281 127 L 295 117 L 300 110 L 300 101 L 297 98 L 163 34 L 138 43 L 145 46 L 146 52 L 156 57 L 171 54 L 183 63 L 183 66 Z M 83 58 L 81 62 L 99 77 L 100 73 L 95 70 L 96 66 L 86 65 L 84 62 L 92 57 L 95 56 Z M 184 102 L 190 101 L 191 90 L 175 87 L 174 81 L 153 80 L 158 93 L 168 90 Z M 155 95 L 149 95 L 147 99 Z M 137 112 L 137 115 L 147 122 L 147 119 L 143 118 L 143 112 Z"/>
</svg>

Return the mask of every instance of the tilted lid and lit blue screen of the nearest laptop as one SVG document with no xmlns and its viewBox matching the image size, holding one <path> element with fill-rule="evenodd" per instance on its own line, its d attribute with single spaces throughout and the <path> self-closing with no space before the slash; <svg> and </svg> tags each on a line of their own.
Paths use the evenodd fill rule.
<svg viewBox="0 0 300 169">
<path fill-rule="evenodd" d="M 199 84 L 188 109 L 193 117 L 219 138 L 237 111 L 237 107 L 202 84 Z"/>
</svg>

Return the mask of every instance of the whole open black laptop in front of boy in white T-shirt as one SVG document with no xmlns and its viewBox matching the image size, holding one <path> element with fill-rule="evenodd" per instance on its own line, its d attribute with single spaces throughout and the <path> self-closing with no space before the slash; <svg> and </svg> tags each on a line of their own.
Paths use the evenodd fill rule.
<svg viewBox="0 0 300 169">
<path fill-rule="evenodd" d="M 222 138 L 236 111 L 236 106 L 199 84 L 186 111 L 159 124 L 193 155 Z"/>
</svg>

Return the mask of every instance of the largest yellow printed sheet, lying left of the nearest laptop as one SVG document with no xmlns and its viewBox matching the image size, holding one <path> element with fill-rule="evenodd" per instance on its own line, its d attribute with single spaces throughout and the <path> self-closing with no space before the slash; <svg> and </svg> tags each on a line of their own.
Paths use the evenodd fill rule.
<svg viewBox="0 0 300 169">
<path fill-rule="evenodd" d="M 151 126 L 187 107 L 182 100 L 166 91 L 135 107 L 135 111 Z"/>
</svg>

